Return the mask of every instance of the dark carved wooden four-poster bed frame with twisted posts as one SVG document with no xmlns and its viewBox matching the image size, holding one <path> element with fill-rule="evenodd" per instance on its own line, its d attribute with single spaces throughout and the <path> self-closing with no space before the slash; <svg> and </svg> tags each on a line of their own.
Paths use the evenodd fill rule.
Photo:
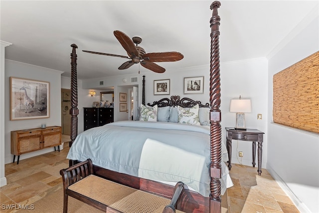
<svg viewBox="0 0 319 213">
<path fill-rule="evenodd" d="M 206 105 L 202 105 L 202 107 L 210 107 L 209 111 L 209 192 L 208 196 L 205 197 L 199 193 L 193 192 L 192 190 L 184 189 L 181 192 L 179 200 L 176 204 L 176 209 L 184 212 L 198 212 L 198 213 L 218 213 L 221 212 L 221 176 L 222 176 L 222 167 L 221 167 L 221 112 L 220 112 L 220 73 L 219 73 L 219 21 L 220 17 L 218 16 L 217 9 L 220 6 L 219 1 L 214 1 L 210 8 L 212 9 L 212 17 L 210 19 L 210 27 L 211 27 L 211 52 L 210 52 L 210 103 Z M 71 53 L 71 142 L 75 141 L 77 137 L 77 115 L 79 114 L 79 110 L 77 108 L 77 70 L 76 70 L 76 48 L 75 44 L 71 45 L 72 53 Z M 143 76 L 144 77 L 144 76 Z M 143 78 L 143 104 L 145 105 L 145 79 Z M 167 103 L 163 102 L 163 99 L 159 102 L 156 102 L 150 106 L 154 106 L 163 104 L 164 106 L 172 106 L 177 102 L 177 105 L 181 105 L 183 107 L 192 107 L 194 104 L 200 104 L 191 99 L 182 99 L 180 102 L 179 97 L 172 96 L 171 100 L 167 99 Z M 165 101 L 165 100 L 164 100 Z M 185 102 L 184 102 L 185 101 Z M 186 103 L 186 104 L 185 104 Z M 79 160 L 79 159 L 77 159 Z M 70 166 L 74 165 L 78 161 L 70 160 Z M 174 187 L 162 184 L 158 181 L 153 181 L 150 179 L 140 178 L 120 172 L 115 172 L 112 170 L 104 169 L 100 166 L 94 165 L 93 167 L 94 174 L 105 177 L 110 181 L 114 181 L 116 183 L 120 183 L 125 186 L 130 186 L 135 189 L 139 189 L 142 191 L 152 192 L 154 194 L 163 196 L 165 198 L 172 198 Z"/>
</svg>

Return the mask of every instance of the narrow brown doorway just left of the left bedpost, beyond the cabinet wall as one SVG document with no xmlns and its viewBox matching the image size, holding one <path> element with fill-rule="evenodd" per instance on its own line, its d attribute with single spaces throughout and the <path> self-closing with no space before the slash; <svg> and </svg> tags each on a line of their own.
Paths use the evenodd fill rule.
<svg viewBox="0 0 319 213">
<path fill-rule="evenodd" d="M 61 127 L 63 135 L 71 134 L 71 90 L 61 89 Z"/>
</svg>

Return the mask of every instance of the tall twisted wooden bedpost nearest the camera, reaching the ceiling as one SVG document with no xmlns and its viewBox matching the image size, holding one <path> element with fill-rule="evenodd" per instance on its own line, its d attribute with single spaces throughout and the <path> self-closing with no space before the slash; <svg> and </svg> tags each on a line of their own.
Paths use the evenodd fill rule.
<svg viewBox="0 0 319 213">
<path fill-rule="evenodd" d="M 219 1 L 210 5 L 213 10 L 210 19 L 210 213 L 221 212 L 221 111 L 220 107 L 220 69 L 219 69 L 219 24 L 217 9 Z"/>
</svg>

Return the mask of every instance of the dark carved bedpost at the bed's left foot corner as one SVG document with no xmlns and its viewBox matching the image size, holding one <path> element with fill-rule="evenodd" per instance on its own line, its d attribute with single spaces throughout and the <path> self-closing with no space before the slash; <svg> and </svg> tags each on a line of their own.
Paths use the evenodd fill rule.
<svg viewBox="0 0 319 213">
<path fill-rule="evenodd" d="M 77 83 L 77 73 L 76 73 L 76 44 L 72 44 L 72 53 L 71 53 L 71 109 L 70 109 L 70 115 L 71 115 L 71 142 L 69 143 L 69 147 L 72 146 L 72 143 L 74 142 L 76 136 L 78 135 L 78 114 L 79 110 L 77 108 L 78 106 L 78 83 Z"/>
</svg>

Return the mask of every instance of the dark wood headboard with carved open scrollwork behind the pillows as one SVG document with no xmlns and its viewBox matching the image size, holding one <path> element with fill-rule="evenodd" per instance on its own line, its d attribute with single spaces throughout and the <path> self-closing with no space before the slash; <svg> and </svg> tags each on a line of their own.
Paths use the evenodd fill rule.
<svg viewBox="0 0 319 213">
<path fill-rule="evenodd" d="M 206 103 L 205 105 L 201 104 L 200 101 L 194 101 L 190 98 L 182 98 L 178 95 L 170 96 L 170 99 L 168 98 L 162 98 L 159 101 L 154 101 L 153 104 L 148 103 L 148 106 L 155 106 L 158 105 L 158 107 L 165 107 L 165 106 L 181 106 L 181 107 L 193 107 L 196 104 L 199 105 L 199 107 L 209 107 L 209 103 Z"/>
</svg>

